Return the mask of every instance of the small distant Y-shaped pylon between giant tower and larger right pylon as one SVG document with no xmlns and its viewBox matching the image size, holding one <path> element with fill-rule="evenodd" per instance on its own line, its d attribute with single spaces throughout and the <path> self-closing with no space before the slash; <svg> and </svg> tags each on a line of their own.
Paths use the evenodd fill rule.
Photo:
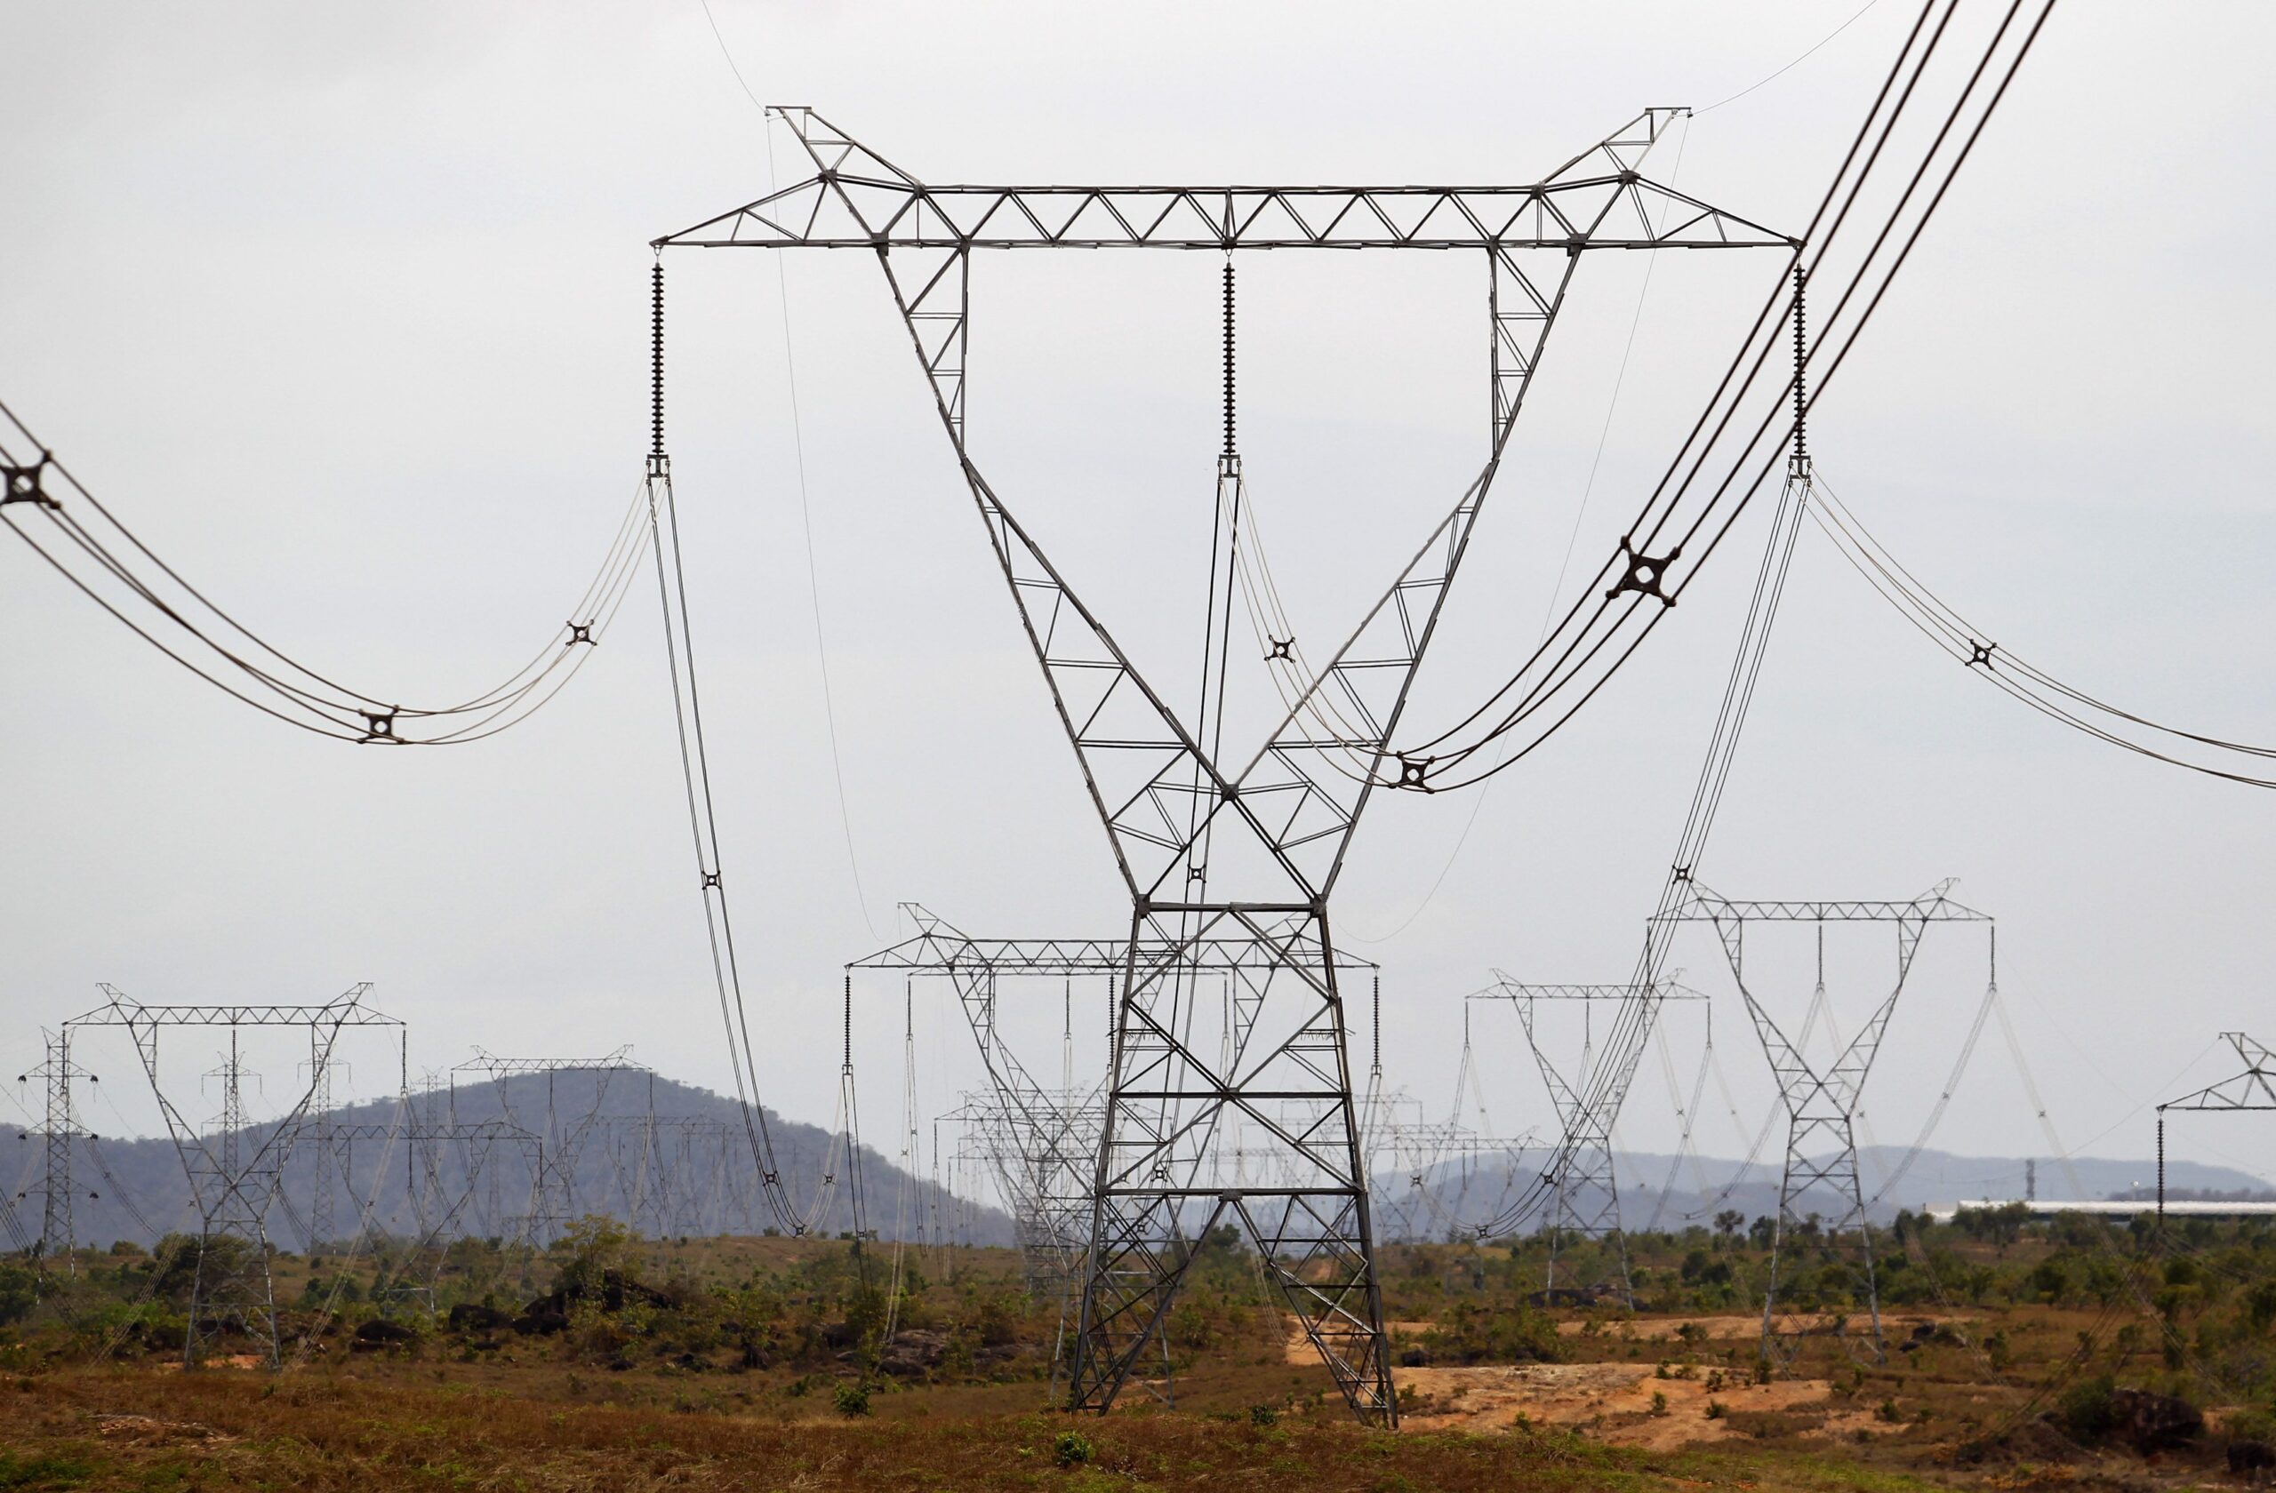
<svg viewBox="0 0 2276 1493">
<path fill-rule="evenodd" d="M 1557 1259 L 1564 1252 L 1568 1238 L 1598 1240 L 1611 1247 L 1616 1288 L 1621 1293 L 1621 1304 L 1627 1309 L 1636 1306 L 1636 1286 L 1627 1275 L 1627 1238 L 1621 1231 L 1621 1179 L 1614 1165 L 1614 1140 L 1611 1124 L 1627 1102 L 1627 1083 L 1634 1079 L 1634 1065 L 1618 1067 L 1614 1072 L 1616 1086 L 1600 1102 L 1589 1104 L 1582 1086 L 1573 1083 L 1573 1074 L 1580 1074 L 1586 1083 L 1589 1074 L 1595 1072 L 1595 1038 L 1589 1011 L 1595 1001 L 1611 1001 L 1623 1008 L 1632 1008 L 1632 1001 L 1643 1001 L 1646 1022 L 1657 1022 L 1659 1011 L 1668 1001 L 1707 1001 L 1698 990 L 1677 985 L 1673 979 L 1652 981 L 1650 988 L 1639 990 L 1636 985 L 1529 985 L 1509 979 L 1500 970 L 1493 972 L 1493 983 L 1484 990 L 1470 995 L 1473 1001 L 1509 1001 L 1518 1013 L 1518 1024 L 1525 1026 L 1525 1045 L 1534 1054 L 1534 1067 L 1541 1070 L 1541 1083 L 1550 1090 L 1550 1104 L 1557 1108 L 1557 1122 L 1564 1127 L 1564 1143 L 1557 1149 L 1555 1174 L 1543 1177 L 1552 1188 L 1555 1213 L 1550 1215 L 1543 1231 L 1550 1236 L 1550 1263 L 1543 1290 L 1550 1300 L 1557 1297 Z M 1577 1001 L 1582 1008 L 1582 1051 L 1580 1063 L 1570 1072 L 1555 1063 L 1543 1042 L 1543 1033 L 1536 1024 L 1539 1001 Z"/>
</svg>

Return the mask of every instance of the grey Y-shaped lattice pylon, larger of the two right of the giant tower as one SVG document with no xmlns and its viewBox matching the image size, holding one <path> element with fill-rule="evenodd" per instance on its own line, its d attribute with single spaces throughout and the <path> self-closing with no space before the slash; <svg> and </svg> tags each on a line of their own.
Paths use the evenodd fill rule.
<svg viewBox="0 0 2276 1493">
<path fill-rule="evenodd" d="M 1714 926 L 1716 938 L 1723 942 L 1723 956 L 1730 960 L 1732 981 L 1739 985 L 1746 1013 L 1762 1038 L 1762 1051 L 1771 1061 L 1771 1074 L 1778 1079 L 1780 1104 L 1787 1108 L 1787 1168 L 1778 1183 L 1778 1234 L 1771 1240 L 1771 1281 L 1762 1293 L 1764 1359 L 1791 1363 L 1793 1334 L 1807 1331 L 1812 1325 L 1791 1322 L 1784 1329 L 1780 1327 L 1778 1288 L 1780 1270 L 1789 1263 L 1784 1261 L 1789 1236 L 1819 1243 L 1823 1268 L 1846 1275 L 1850 1297 L 1866 1306 L 1869 1336 L 1853 1334 L 1846 1313 L 1832 1315 L 1832 1331 L 1855 1354 L 1871 1356 L 1875 1363 L 1887 1356 L 1880 1331 L 1880 1288 L 1873 1279 L 1873 1236 L 1866 1227 L 1864 1186 L 1857 1174 L 1855 1115 L 1864 1097 L 1864 1083 L 1873 1072 L 1880 1040 L 1889 1031 L 1889 1017 L 1896 1013 L 1896 1001 L 1905 992 L 1905 979 L 1912 974 L 1912 956 L 1919 954 L 1928 924 L 1991 924 L 1989 913 L 1978 913 L 1953 901 L 1951 888 L 1951 879 L 1939 881 L 1912 901 L 1730 901 L 1691 881 L 1689 894 L 1664 917 L 1664 922 L 1707 922 Z M 1748 922 L 1809 922 L 1819 926 L 1819 983 L 1798 1038 L 1787 1038 L 1778 1022 L 1771 1020 L 1753 985 L 1746 983 Z M 1857 1036 L 1839 1049 L 1830 1067 L 1821 1070 L 1803 1056 L 1803 1042 L 1807 1040 L 1809 1022 L 1825 1006 L 1823 926 L 1830 922 L 1894 924 L 1896 979 Z M 1814 1213 L 1805 1215 L 1800 1211 L 1800 1199 L 1814 1190 L 1832 1193 L 1841 1204 L 1839 1218 L 1830 1224 Z"/>
</svg>

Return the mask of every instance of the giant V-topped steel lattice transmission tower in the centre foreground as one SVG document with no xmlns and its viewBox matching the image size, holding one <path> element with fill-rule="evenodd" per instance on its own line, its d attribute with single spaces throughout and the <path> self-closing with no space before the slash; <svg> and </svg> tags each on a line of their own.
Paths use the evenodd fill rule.
<svg viewBox="0 0 2276 1493">
<path fill-rule="evenodd" d="M 1532 187 L 931 187 L 813 109 L 769 114 L 815 173 L 655 248 L 876 253 L 1131 894 L 1070 1404 L 1113 1402 L 1161 1331 L 1186 1240 L 1234 1215 L 1352 1409 L 1391 1425 L 1397 1402 L 1327 899 L 1372 792 L 1422 787 L 1422 765 L 1402 765 L 1391 733 L 1582 253 L 1791 253 L 1793 241 L 1641 175 L 1682 109 L 1646 109 Z M 1206 683 L 1222 678 L 1222 637 L 1204 649 L 1202 710 L 1186 719 L 974 462 L 972 255 L 1013 248 L 1427 248 L 1484 259 L 1486 464 L 1325 667 L 1275 640 L 1268 669 L 1293 703 L 1245 762 L 1220 753 L 1222 699 Z M 1220 505 L 1238 503 L 1238 482 L 1227 442 Z M 1229 612 L 1218 610 L 1215 580 L 1231 585 L 1229 542 L 1211 555 L 1213 633 Z M 1190 954 L 1211 940 L 1254 940 L 1270 979 L 1231 1004 L 1231 1038 L 1204 1051 Z M 1300 1174 L 1261 1188 L 1220 1172 L 1220 1120 L 1277 1136 Z"/>
</svg>

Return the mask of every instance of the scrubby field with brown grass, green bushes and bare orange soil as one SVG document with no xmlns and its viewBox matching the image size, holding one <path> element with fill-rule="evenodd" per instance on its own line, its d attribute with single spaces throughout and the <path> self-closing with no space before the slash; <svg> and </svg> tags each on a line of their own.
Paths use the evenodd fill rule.
<svg viewBox="0 0 2276 1493">
<path fill-rule="evenodd" d="M 2276 1231 L 2017 1213 L 1875 1234 L 1882 1341 L 1830 1256 L 1391 1245 L 1397 1432 L 1354 1425 L 1252 1254 L 1202 1240 L 1165 1361 L 1054 1409 L 1061 1304 L 1008 1249 L 380 1245 L 269 1265 L 284 1368 L 189 1284 L 259 1261 L 0 1261 L 0 1488 L 2178 1488 L 2276 1470 Z M 1589 1304 L 1580 1304 L 1589 1302 Z"/>
</svg>

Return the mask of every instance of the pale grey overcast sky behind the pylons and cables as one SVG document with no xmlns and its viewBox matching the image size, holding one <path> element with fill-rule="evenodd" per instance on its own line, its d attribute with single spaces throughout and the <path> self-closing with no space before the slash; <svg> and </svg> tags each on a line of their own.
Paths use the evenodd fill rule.
<svg viewBox="0 0 2276 1493">
<path fill-rule="evenodd" d="M 1643 105 L 1693 105 L 1652 175 L 1791 230 L 1910 7 L 1882 0 L 1707 105 L 1853 11 L 712 0 L 715 36 L 696 0 L 11 5 L 0 396 L 280 644 L 373 694 L 455 699 L 562 621 L 637 487 L 646 241 L 790 180 L 794 148 L 776 130 L 769 162 L 721 39 L 758 98 L 813 105 L 935 180 L 1529 182 Z M 2260 742 L 2271 43 L 2260 5 L 2064 0 L 1812 428 L 1841 496 L 2003 646 Z M 974 455 L 1143 660 L 1184 660 L 1218 259 L 1013 259 L 976 271 Z M 840 965 L 906 931 L 897 901 L 974 933 L 1120 935 L 1127 899 L 874 259 L 669 269 L 671 451 L 765 1097 L 826 1122 Z M 1666 255 L 1646 296 L 1641 255 L 1582 266 L 1420 712 L 1452 719 L 1532 646 L 1575 530 L 1577 574 L 1609 551 L 1775 273 Z M 1484 380 L 1468 255 L 1243 259 L 1243 451 L 1300 626 L 1341 633 L 1468 480 Z M 1432 1108 L 1491 967 L 1627 974 L 1714 719 L 1759 530 L 1743 537 L 1484 801 L 1397 794 L 1363 826 L 1336 919 L 1384 963 L 1391 1081 Z M 180 1001 L 369 979 L 412 1022 L 414 1067 L 476 1042 L 633 1042 L 728 1083 L 646 592 L 551 710 L 451 751 L 289 733 L 14 542 L 0 630 L 9 1072 L 96 981 Z M 2233 1070 L 2208 1051 L 2219 1031 L 2276 1026 L 2271 826 L 2265 792 L 2023 712 L 1805 535 L 1700 874 L 1732 897 L 1960 876 L 2001 919 L 2001 988 L 2055 1131 L 2146 1156 L 2144 1106 Z M 1766 933 L 1762 970 L 1798 1013 L 1807 931 L 1791 940 Z M 1850 1031 L 1889 976 L 1887 933 L 1839 935 L 1828 960 Z M 1739 1154 L 1768 1104 L 1762 1054 L 1712 940 L 1675 963 L 1716 997 L 1746 1115 L 1698 1140 Z M 1982 938 L 1932 931 L 1869 1092 L 1878 1140 L 1914 1136 L 1982 988 Z M 858 1001 L 865 1124 L 892 1149 L 901 999 Z M 917 1024 L 931 1115 L 979 1065 L 945 992 L 920 992 Z M 1049 992 L 1020 1017 L 1045 1067 L 1058 1024 Z M 1632 1145 L 1673 1143 L 1661 1067 L 1677 1088 L 1698 1072 L 1698 1031 L 1668 1038 Z M 1482 1013 L 1475 1040 L 1493 1124 L 1545 1124 L 1516 1022 Z M 132 1054 L 84 1056 L 125 1079 L 98 1129 L 150 1129 Z M 200 1058 L 178 1056 L 191 1092 Z M 357 1092 L 389 1083 L 382 1054 L 357 1065 Z M 2271 1143 L 2253 1117 L 2174 1133 L 2176 1154 L 2260 1174 Z M 1937 1145 L 2048 1154 L 1996 1033 Z"/>
</svg>

